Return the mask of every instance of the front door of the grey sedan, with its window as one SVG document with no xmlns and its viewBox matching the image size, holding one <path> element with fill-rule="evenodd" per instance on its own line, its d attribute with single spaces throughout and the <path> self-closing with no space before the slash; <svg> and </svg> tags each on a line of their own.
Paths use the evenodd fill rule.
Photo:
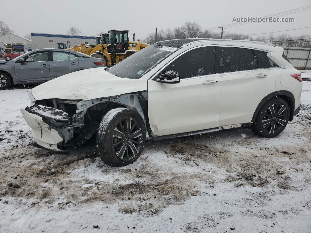
<svg viewBox="0 0 311 233">
<path fill-rule="evenodd" d="M 20 82 L 50 80 L 49 51 L 30 53 L 23 58 L 24 63 L 15 63 L 16 77 Z"/>
</svg>

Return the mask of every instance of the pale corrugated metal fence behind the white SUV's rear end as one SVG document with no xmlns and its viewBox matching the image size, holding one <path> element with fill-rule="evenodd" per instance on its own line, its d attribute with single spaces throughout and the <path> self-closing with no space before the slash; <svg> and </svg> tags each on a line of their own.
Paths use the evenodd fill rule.
<svg viewBox="0 0 311 233">
<path fill-rule="evenodd" d="M 285 46 L 282 48 L 284 48 L 285 56 L 296 69 L 311 69 L 311 48 Z"/>
</svg>

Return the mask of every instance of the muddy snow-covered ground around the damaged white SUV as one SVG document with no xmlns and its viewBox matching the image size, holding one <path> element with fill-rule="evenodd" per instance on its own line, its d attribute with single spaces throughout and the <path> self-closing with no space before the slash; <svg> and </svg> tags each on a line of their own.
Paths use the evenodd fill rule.
<svg viewBox="0 0 311 233">
<path fill-rule="evenodd" d="M 69 155 L 31 146 L 19 111 L 28 91 L 0 91 L 1 233 L 311 232 L 311 82 L 276 138 L 234 129 L 167 140 L 121 168 L 92 143 Z"/>
</svg>

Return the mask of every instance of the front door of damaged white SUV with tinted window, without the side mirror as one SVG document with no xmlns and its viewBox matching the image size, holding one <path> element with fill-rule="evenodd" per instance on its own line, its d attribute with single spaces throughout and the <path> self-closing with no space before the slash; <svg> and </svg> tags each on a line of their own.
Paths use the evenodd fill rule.
<svg viewBox="0 0 311 233">
<path fill-rule="evenodd" d="M 215 74 L 215 47 L 193 48 L 148 81 L 148 115 L 155 135 L 218 127 L 220 77 Z M 180 83 L 157 81 L 166 70 L 177 71 Z"/>
</svg>

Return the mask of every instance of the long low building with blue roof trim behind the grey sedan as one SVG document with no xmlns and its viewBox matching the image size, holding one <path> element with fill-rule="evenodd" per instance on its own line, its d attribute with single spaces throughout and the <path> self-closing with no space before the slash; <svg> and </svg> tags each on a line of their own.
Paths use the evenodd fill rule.
<svg viewBox="0 0 311 233">
<path fill-rule="evenodd" d="M 46 33 L 31 33 L 32 48 L 58 48 L 57 43 L 67 43 L 67 48 L 85 44 L 95 44 L 95 36 L 83 35 L 63 35 L 63 34 L 46 34 Z"/>
</svg>

